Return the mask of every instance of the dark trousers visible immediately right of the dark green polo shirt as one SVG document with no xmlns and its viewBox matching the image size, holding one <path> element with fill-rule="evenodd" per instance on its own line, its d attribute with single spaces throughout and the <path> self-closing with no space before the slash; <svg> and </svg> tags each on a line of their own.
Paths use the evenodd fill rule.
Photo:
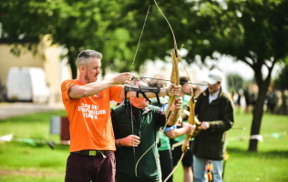
<svg viewBox="0 0 288 182">
<path fill-rule="evenodd" d="M 170 175 L 173 170 L 173 161 L 171 150 L 159 151 L 160 167 L 162 173 L 162 181 Z M 167 182 L 173 182 L 173 175 L 167 180 Z"/>
</svg>

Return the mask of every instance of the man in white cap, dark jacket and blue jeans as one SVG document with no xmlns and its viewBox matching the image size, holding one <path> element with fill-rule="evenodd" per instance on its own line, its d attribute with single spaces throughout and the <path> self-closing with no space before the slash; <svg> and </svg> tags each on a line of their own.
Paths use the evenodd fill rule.
<svg viewBox="0 0 288 182">
<path fill-rule="evenodd" d="M 205 163 L 211 161 L 213 182 L 222 181 L 222 162 L 225 155 L 226 131 L 234 124 L 231 97 L 223 92 L 223 74 L 218 69 L 210 71 L 206 82 L 209 87 L 197 97 L 195 115 L 201 121 L 201 132 L 192 142 L 194 182 L 206 179 Z M 190 111 L 188 105 L 184 107 Z M 181 112 L 183 119 L 188 116 Z"/>
</svg>

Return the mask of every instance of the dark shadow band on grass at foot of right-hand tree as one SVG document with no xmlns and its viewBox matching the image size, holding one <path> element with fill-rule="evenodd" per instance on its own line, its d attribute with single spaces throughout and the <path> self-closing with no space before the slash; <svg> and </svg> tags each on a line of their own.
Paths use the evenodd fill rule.
<svg viewBox="0 0 288 182">
<path fill-rule="evenodd" d="M 271 150 L 252 152 L 236 147 L 227 147 L 229 154 L 235 154 L 239 157 L 266 157 L 266 158 L 288 158 L 288 150 Z"/>
</svg>

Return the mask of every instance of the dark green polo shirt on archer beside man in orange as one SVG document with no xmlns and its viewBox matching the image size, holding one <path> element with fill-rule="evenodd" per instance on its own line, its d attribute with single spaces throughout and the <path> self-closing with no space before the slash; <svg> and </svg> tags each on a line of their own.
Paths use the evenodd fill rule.
<svg viewBox="0 0 288 182">
<path fill-rule="evenodd" d="M 133 135 L 139 136 L 140 144 L 138 147 L 118 147 L 115 152 L 116 157 L 116 177 L 133 181 L 158 181 L 159 180 L 159 158 L 157 145 L 154 145 L 149 152 L 141 158 L 135 174 L 135 166 L 144 152 L 156 141 L 159 135 L 159 124 L 156 122 L 158 106 L 149 106 L 148 113 L 143 114 L 138 110 L 140 126 L 133 122 Z M 124 106 L 112 108 L 117 121 L 113 121 L 115 138 L 123 138 L 132 135 L 131 117 L 128 115 Z M 135 158 L 134 158 L 135 155 Z"/>
</svg>

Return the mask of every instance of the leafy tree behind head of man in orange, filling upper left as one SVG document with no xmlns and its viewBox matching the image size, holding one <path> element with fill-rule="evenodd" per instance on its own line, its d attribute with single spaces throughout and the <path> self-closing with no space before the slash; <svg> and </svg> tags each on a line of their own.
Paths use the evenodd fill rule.
<svg viewBox="0 0 288 182">
<path fill-rule="evenodd" d="M 36 53 L 36 45 L 43 35 L 50 35 L 52 44 L 66 50 L 63 57 L 67 57 L 74 79 L 77 78 L 77 55 L 84 49 L 102 53 L 103 76 L 108 67 L 126 71 L 134 53 L 127 45 L 129 31 L 122 27 L 108 29 L 108 25 L 115 23 L 121 4 L 123 2 L 116 0 L 2 1 L 1 41 L 15 45 L 11 51 L 19 56 L 19 47 Z"/>
</svg>

